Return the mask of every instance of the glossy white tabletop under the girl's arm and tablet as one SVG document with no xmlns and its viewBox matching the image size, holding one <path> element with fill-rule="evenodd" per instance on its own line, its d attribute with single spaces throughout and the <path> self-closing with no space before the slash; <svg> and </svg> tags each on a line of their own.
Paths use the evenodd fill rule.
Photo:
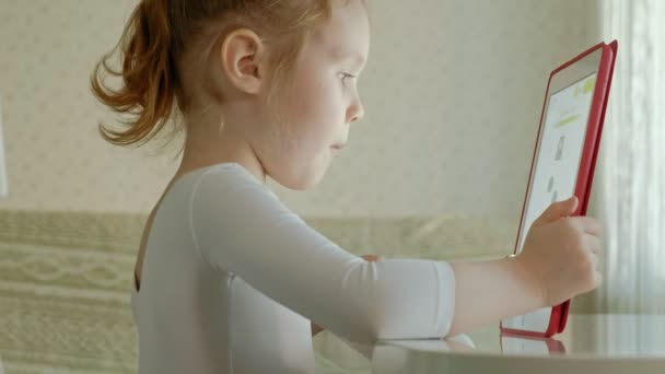
<svg viewBox="0 0 665 374">
<path fill-rule="evenodd" d="M 334 344 L 319 348 L 345 366 Z M 354 358 L 349 373 L 665 373 L 665 315 L 570 315 L 563 334 L 550 339 L 502 337 L 495 325 L 446 340 L 353 348 L 366 365 Z"/>
</svg>

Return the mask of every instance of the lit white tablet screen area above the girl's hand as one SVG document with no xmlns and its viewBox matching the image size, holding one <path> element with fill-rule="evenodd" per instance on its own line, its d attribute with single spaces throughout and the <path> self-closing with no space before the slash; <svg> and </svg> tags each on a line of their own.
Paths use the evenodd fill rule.
<svg viewBox="0 0 665 374">
<path fill-rule="evenodd" d="M 594 72 L 549 96 L 518 252 L 534 221 L 575 191 L 595 86 Z"/>
</svg>

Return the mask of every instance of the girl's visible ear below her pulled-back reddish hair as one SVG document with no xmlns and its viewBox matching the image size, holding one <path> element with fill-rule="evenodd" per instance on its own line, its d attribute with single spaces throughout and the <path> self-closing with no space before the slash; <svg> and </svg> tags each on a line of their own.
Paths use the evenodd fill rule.
<svg viewBox="0 0 665 374">
<path fill-rule="evenodd" d="M 220 57 L 229 82 L 246 94 L 258 94 L 264 79 L 264 43 L 255 32 L 240 28 L 226 35 Z"/>
</svg>

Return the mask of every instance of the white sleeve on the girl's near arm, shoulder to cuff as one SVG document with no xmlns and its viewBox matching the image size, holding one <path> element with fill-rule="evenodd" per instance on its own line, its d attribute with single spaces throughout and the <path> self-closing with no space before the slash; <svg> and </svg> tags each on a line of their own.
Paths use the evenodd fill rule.
<svg viewBox="0 0 665 374">
<path fill-rule="evenodd" d="M 450 330 L 455 276 L 447 262 L 365 261 L 308 226 L 240 167 L 203 173 L 189 214 L 211 267 L 342 338 L 435 338 Z"/>
</svg>

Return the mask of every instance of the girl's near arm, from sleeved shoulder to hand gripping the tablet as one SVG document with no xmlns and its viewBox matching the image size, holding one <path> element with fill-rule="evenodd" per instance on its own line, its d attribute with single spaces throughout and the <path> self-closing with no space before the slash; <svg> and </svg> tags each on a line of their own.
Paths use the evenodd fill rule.
<svg viewBox="0 0 665 374">
<path fill-rule="evenodd" d="M 533 224 L 517 257 L 480 262 L 365 261 L 308 226 L 242 166 L 202 173 L 189 219 L 197 249 L 214 269 L 341 338 L 373 342 L 456 335 L 596 288 L 597 223 L 560 220 L 575 209 L 567 201 Z"/>
</svg>

